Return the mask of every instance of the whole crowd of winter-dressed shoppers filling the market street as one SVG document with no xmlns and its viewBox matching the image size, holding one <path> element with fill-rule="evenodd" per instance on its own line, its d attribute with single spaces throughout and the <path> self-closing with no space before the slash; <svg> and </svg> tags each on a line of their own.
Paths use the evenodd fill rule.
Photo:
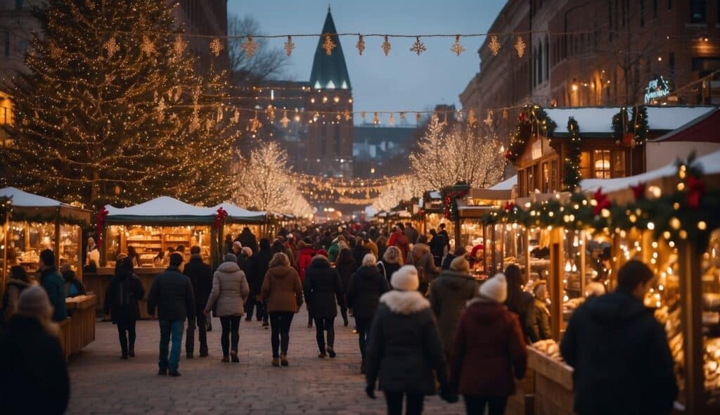
<svg viewBox="0 0 720 415">
<path fill-rule="evenodd" d="M 135 266 L 132 256 L 120 254 L 104 296 L 123 360 L 135 357 L 139 301 L 145 298 Z M 66 295 L 84 288 L 58 272 L 49 250 L 40 254 L 40 285 L 32 285 L 22 268 L 11 275 L 0 335 L 0 380 L 10 386 L 0 392 L 0 408 L 14 414 L 17 400 L 8 397 L 40 388 L 47 399 L 24 399 L 22 410 L 30 404 L 37 413 L 62 413 L 68 375 L 55 323 L 66 318 Z M 644 264 L 630 261 L 618 272 L 615 293 L 591 298 L 573 314 L 561 349 L 575 367 L 578 413 L 669 413 L 678 391 L 672 358 L 665 331 L 642 304 L 651 280 Z M 376 398 L 376 389 L 382 391 L 388 414 L 402 414 L 403 404 L 406 414 L 420 414 L 424 398 L 438 393 L 450 403 L 462 395 L 468 414 L 487 409 L 494 415 L 504 413 L 516 380 L 525 375 L 526 344 L 549 337 L 546 287 L 536 285 L 534 295 L 522 287 L 516 265 L 480 284 L 464 249 L 449 252 L 444 227 L 431 230 L 429 241 L 402 223 L 390 235 L 354 224 L 336 231 L 282 230 L 273 241 L 257 241 L 246 228 L 225 239 L 215 270 L 198 246 L 190 248 L 186 263 L 183 254 L 169 254 L 147 308 L 160 329 L 158 375 L 181 375 L 184 334 L 186 358 L 194 358 L 195 331 L 199 357 L 210 355 L 211 314 L 220 318 L 221 362 L 240 361 L 240 321 L 254 316 L 270 331 L 271 365 L 289 366 L 290 327 L 306 303 L 319 359 L 337 356 L 338 308 L 343 326 L 354 318 L 366 394 Z M 17 378 L 10 381 L 8 373 Z"/>
</svg>

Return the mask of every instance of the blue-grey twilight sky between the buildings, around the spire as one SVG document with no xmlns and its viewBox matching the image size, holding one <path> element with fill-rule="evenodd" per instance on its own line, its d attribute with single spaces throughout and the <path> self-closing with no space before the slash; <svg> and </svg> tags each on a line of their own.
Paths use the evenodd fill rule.
<svg viewBox="0 0 720 415">
<path fill-rule="evenodd" d="M 484 33 L 505 4 L 503 0 L 229 0 L 228 13 L 251 15 L 266 35 L 319 33 L 328 2 L 338 32 L 398 35 Z M 459 107 L 458 95 L 480 67 L 477 49 L 484 39 L 461 38 L 466 50 L 459 57 L 450 51 L 454 38 L 421 40 L 428 50 L 418 56 L 408 50 L 413 39 L 390 38 L 392 49 L 386 57 L 381 37 L 366 38 L 366 50 L 359 56 L 357 37 L 341 37 L 355 111 L 430 110 L 439 103 Z M 318 39 L 293 41 L 296 48 L 286 78 L 305 81 L 310 79 Z M 284 39 L 269 42 L 282 48 Z M 367 118 L 371 119 L 372 115 Z"/>
</svg>

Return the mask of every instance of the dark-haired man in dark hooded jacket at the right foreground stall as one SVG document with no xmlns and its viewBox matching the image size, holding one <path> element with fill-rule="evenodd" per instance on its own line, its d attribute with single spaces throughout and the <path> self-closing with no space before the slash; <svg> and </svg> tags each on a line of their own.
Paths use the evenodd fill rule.
<svg viewBox="0 0 720 415">
<path fill-rule="evenodd" d="M 562 337 L 562 357 L 575 369 L 575 412 L 670 414 L 678 396 L 672 355 L 665 329 L 643 304 L 654 275 L 631 260 L 617 278 L 615 292 L 572 313 Z"/>
</svg>

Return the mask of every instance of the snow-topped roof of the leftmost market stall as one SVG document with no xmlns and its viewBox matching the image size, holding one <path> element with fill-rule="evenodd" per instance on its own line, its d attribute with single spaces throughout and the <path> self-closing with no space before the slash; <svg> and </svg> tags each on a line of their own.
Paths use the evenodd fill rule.
<svg viewBox="0 0 720 415">
<path fill-rule="evenodd" d="M 0 197 L 11 200 L 12 216 L 16 220 L 59 219 L 60 222 L 84 223 L 90 225 L 92 213 L 89 210 L 76 208 L 73 205 L 50 199 L 49 197 L 24 192 L 15 187 L 0 189 Z"/>
</svg>

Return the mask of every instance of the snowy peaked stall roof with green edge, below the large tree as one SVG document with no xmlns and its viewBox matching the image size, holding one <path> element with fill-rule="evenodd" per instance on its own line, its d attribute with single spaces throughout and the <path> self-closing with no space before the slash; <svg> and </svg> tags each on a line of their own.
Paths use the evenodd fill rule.
<svg viewBox="0 0 720 415">
<path fill-rule="evenodd" d="M 173 197 L 161 196 L 129 208 L 105 205 L 106 223 L 186 224 L 214 223 L 215 210 L 189 205 Z"/>
</svg>

